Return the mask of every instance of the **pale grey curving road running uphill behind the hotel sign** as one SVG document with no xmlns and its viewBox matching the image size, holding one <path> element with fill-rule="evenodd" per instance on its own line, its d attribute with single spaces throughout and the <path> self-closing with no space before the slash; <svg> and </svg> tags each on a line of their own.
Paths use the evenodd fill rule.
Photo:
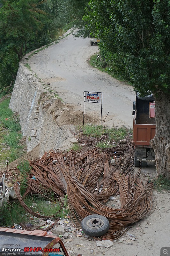
<svg viewBox="0 0 170 256">
<path fill-rule="evenodd" d="M 29 63 L 32 70 L 58 92 L 66 103 L 83 110 L 83 92 L 103 93 L 103 115 L 109 115 L 105 125 L 121 123 L 133 126 L 132 106 L 135 100 L 133 87 L 117 81 L 106 73 L 91 67 L 88 59 L 98 52 L 97 45 L 90 45 L 89 38 L 75 38 L 72 34 L 45 50 L 34 54 Z M 85 103 L 85 113 L 95 115 L 100 123 L 101 105 Z"/>
</svg>

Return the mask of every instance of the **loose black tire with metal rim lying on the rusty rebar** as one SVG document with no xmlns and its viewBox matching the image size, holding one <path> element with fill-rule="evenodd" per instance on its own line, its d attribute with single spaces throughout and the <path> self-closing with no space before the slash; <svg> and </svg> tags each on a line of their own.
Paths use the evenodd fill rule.
<svg viewBox="0 0 170 256">
<path fill-rule="evenodd" d="M 102 236 L 109 229 L 109 221 L 102 215 L 93 214 L 82 220 L 81 228 L 89 236 Z"/>
</svg>

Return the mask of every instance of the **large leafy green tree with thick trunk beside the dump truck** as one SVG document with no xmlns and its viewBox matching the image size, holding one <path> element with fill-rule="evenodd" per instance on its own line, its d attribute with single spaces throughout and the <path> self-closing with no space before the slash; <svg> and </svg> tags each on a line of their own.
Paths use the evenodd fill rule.
<svg viewBox="0 0 170 256">
<path fill-rule="evenodd" d="M 170 178 L 170 1 L 91 0 L 86 12 L 84 28 L 100 38 L 101 55 L 114 72 L 142 96 L 153 93 L 152 147 L 158 175 Z"/>
</svg>

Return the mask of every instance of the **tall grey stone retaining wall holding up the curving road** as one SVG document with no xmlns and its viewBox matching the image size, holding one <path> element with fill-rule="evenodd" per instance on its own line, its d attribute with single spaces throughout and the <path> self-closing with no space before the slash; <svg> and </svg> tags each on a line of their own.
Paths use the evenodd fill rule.
<svg viewBox="0 0 170 256">
<path fill-rule="evenodd" d="M 48 94 L 39 79 L 33 76 L 33 72 L 24 63 L 20 63 L 9 108 L 19 114 L 21 131 L 26 136 L 27 151 L 40 143 L 40 157 L 45 151 L 56 150 L 65 142 L 68 144 L 68 138 L 72 137 L 69 126 L 58 126 L 47 112 L 46 106 L 55 100 L 50 97 L 48 99 Z"/>
</svg>

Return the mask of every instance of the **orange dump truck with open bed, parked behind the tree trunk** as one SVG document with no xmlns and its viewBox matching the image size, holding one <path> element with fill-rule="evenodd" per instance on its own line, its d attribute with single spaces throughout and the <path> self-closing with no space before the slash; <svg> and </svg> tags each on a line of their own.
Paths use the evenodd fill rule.
<svg viewBox="0 0 170 256">
<path fill-rule="evenodd" d="M 133 146 L 135 149 L 134 165 L 143 167 L 148 162 L 155 161 L 155 153 L 150 146 L 150 140 L 155 136 L 155 117 L 151 115 L 154 110 L 154 98 L 151 95 L 141 97 L 136 94 L 133 102 Z"/>
</svg>

